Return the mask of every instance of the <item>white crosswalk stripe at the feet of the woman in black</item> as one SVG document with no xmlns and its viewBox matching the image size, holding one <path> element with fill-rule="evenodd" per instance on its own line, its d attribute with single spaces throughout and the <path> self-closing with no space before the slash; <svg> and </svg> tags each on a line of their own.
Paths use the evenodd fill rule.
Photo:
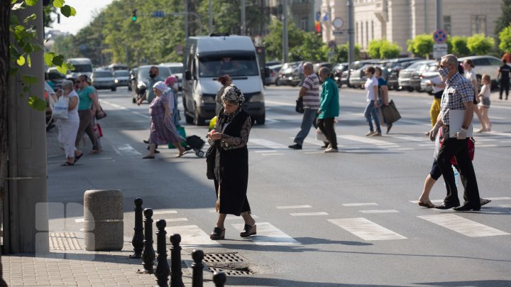
<svg viewBox="0 0 511 287">
<path fill-rule="evenodd" d="M 289 235 L 282 232 L 268 222 L 257 222 L 257 235 L 249 237 L 258 245 L 295 245 L 300 244 Z M 231 224 L 240 232 L 243 231 L 245 224 Z"/>
</svg>

